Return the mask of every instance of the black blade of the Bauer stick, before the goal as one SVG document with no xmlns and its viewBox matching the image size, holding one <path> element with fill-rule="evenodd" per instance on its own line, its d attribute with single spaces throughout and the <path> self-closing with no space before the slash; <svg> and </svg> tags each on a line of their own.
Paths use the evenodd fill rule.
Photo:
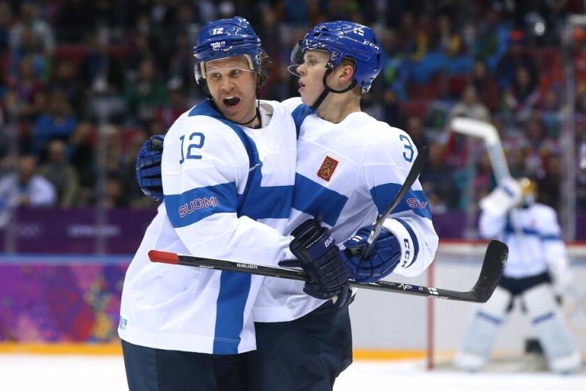
<svg viewBox="0 0 586 391">
<path fill-rule="evenodd" d="M 486 302 L 493 295 L 508 257 L 509 247 L 503 242 L 493 240 L 488 244 L 479 279 L 472 288 L 472 293 L 477 297 L 478 302 Z"/>
</svg>

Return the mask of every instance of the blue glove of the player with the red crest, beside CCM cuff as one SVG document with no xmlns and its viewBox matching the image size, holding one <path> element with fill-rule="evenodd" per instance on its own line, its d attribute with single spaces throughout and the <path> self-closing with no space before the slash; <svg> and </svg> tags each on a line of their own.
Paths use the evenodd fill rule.
<svg viewBox="0 0 586 391">
<path fill-rule="evenodd" d="M 395 235 L 381 228 L 373 244 L 373 255 L 361 258 L 361 254 L 370 230 L 373 226 L 362 227 L 356 235 L 344 242 L 343 251 L 346 269 L 351 279 L 356 282 L 373 282 L 382 279 L 395 270 L 401 259 L 401 248 Z"/>
</svg>

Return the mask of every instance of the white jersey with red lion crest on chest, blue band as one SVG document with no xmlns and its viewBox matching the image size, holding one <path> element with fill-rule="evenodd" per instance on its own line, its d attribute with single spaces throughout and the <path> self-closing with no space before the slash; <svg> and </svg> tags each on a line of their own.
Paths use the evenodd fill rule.
<svg viewBox="0 0 586 391">
<path fill-rule="evenodd" d="M 320 213 L 340 245 L 389 207 L 407 177 L 416 148 L 407 133 L 364 112 L 333 124 L 313 114 L 301 98 L 283 104 L 292 111 L 299 131 L 289 231 Z M 421 274 L 435 256 L 438 238 L 419 181 L 389 216 L 385 228 L 403 250 L 394 273 Z M 257 322 L 293 320 L 323 303 L 303 293 L 302 281 L 267 278 L 255 302 L 254 317 Z"/>
</svg>

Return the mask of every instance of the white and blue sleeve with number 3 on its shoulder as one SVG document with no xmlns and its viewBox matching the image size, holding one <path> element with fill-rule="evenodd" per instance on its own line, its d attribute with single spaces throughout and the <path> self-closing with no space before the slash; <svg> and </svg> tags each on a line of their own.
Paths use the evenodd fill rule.
<svg viewBox="0 0 586 391">
<path fill-rule="evenodd" d="M 383 214 L 407 177 L 417 151 L 407 133 L 386 127 L 370 141 L 362 158 L 360 174 L 379 214 Z M 384 221 L 401 246 L 401 260 L 393 273 L 416 276 L 431 264 L 438 237 L 433 228 L 428 200 L 419 180 Z"/>
</svg>

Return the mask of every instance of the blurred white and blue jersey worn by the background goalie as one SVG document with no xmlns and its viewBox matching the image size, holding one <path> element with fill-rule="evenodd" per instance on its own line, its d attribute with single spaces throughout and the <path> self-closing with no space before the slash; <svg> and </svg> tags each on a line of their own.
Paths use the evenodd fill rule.
<svg viewBox="0 0 586 391">
<path fill-rule="evenodd" d="M 499 239 L 509 246 L 503 275 L 515 279 L 535 276 L 548 270 L 549 262 L 566 259 L 566 246 L 557 215 L 552 207 L 535 202 L 527 208 L 516 208 L 515 222 L 522 235 L 517 235 L 511 214 L 496 216 L 481 212 L 480 235 Z"/>
</svg>

